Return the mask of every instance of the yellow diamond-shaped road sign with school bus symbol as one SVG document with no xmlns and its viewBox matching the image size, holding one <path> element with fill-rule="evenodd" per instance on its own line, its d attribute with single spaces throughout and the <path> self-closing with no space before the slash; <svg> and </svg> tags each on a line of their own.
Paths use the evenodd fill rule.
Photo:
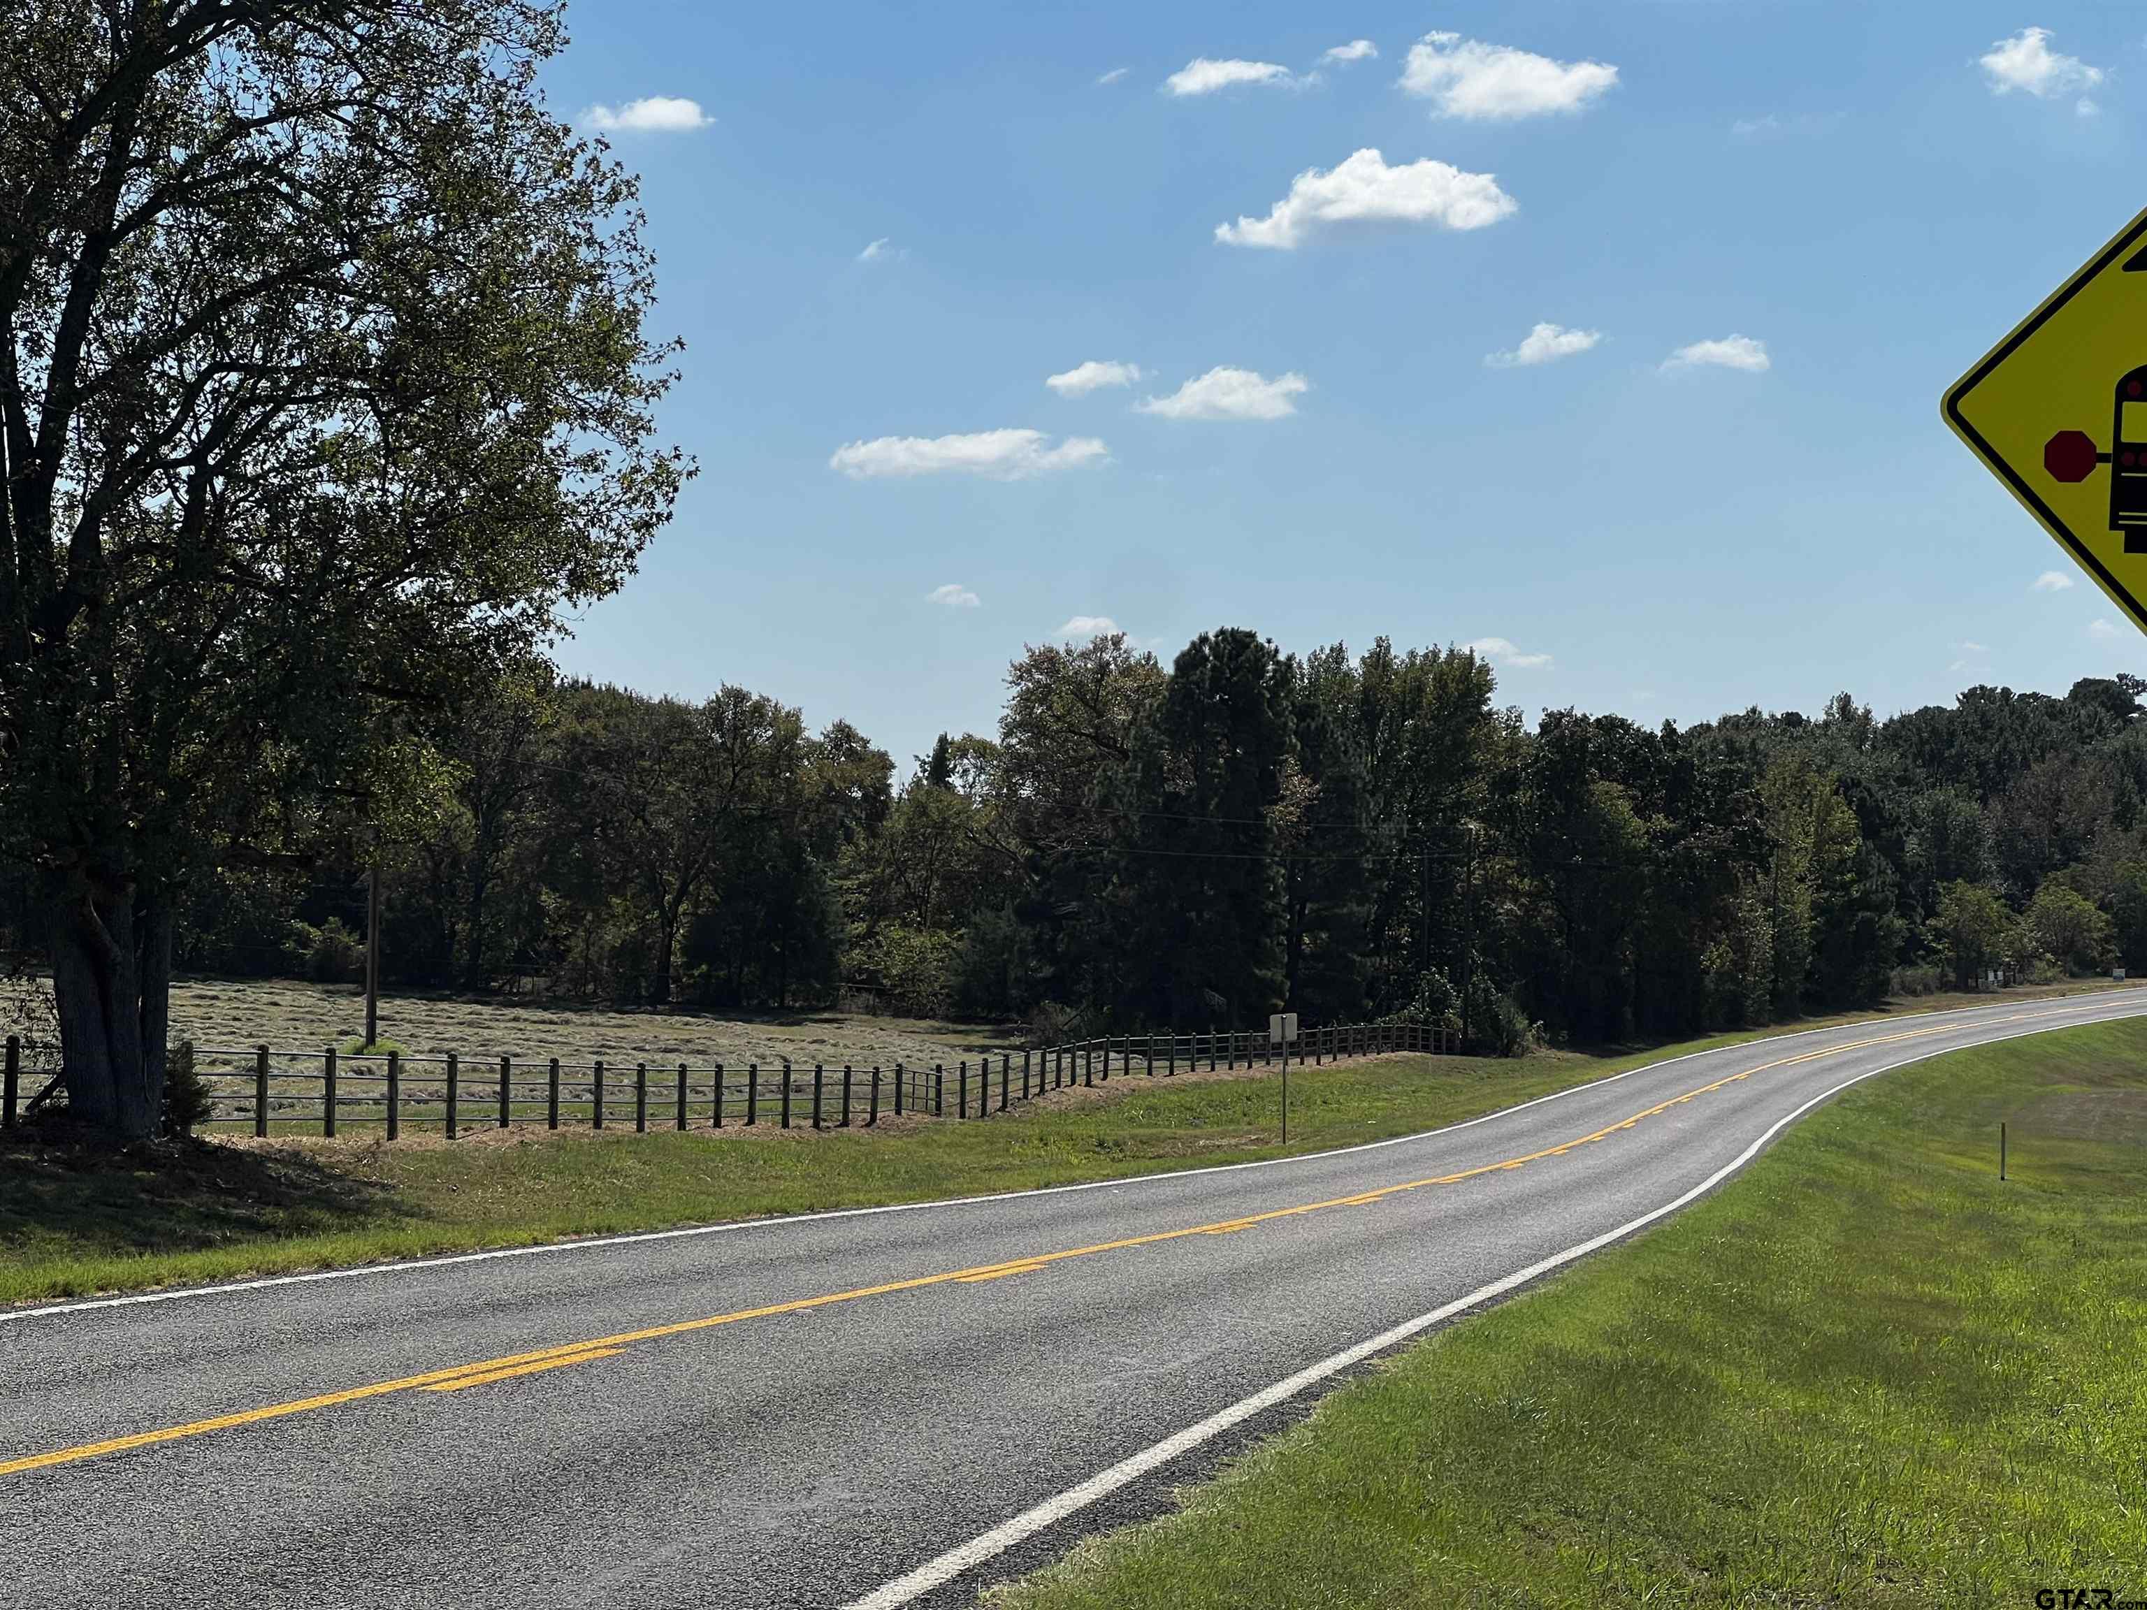
<svg viewBox="0 0 2147 1610">
<path fill-rule="evenodd" d="M 1945 423 L 2147 631 L 2147 213 L 1954 382 Z"/>
</svg>

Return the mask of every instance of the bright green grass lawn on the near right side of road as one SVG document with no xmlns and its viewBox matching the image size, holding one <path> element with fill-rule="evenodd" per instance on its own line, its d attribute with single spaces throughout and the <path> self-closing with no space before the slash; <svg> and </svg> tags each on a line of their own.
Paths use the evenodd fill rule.
<svg viewBox="0 0 2147 1610">
<path fill-rule="evenodd" d="M 2012 1179 L 1997 1176 L 1997 1131 Z M 2147 1599 L 2147 1024 L 1857 1086 L 1001 1610 Z"/>
</svg>

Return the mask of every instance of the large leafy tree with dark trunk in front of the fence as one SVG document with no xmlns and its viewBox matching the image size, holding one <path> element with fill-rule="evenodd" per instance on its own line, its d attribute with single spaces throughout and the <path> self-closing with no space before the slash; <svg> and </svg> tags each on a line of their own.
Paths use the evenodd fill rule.
<svg viewBox="0 0 2147 1610">
<path fill-rule="evenodd" d="M 174 893 L 616 588 L 689 474 L 528 0 L 0 9 L 0 850 L 148 1133 Z"/>
</svg>

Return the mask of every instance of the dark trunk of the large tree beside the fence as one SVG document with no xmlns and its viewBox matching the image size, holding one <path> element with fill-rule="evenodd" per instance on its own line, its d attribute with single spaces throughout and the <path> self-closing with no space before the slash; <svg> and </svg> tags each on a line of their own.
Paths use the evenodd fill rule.
<svg viewBox="0 0 2147 1610">
<path fill-rule="evenodd" d="M 133 889 L 125 884 L 99 889 L 75 880 L 56 902 L 52 994 L 67 1106 L 86 1125 L 120 1140 L 157 1133 L 170 966 L 172 921 L 161 902 L 142 925 Z"/>
</svg>

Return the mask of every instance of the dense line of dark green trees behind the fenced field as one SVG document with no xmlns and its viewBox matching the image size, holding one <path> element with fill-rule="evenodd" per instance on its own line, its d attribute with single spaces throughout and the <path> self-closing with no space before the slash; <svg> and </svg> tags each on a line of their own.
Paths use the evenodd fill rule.
<svg viewBox="0 0 2147 1610">
<path fill-rule="evenodd" d="M 1481 1052 L 2147 966 L 2132 676 L 1692 728 L 1546 711 L 1464 648 L 1166 668 L 1039 646 L 992 736 L 906 769 L 762 693 L 528 665 L 189 889 L 176 964 L 1069 1033 L 1419 1015 Z M 393 801 L 393 805 L 389 805 Z M 17 887 L 21 878 L 17 878 Z M 15 914 L 17 925 L 24 912 Z"/>
</svg>

